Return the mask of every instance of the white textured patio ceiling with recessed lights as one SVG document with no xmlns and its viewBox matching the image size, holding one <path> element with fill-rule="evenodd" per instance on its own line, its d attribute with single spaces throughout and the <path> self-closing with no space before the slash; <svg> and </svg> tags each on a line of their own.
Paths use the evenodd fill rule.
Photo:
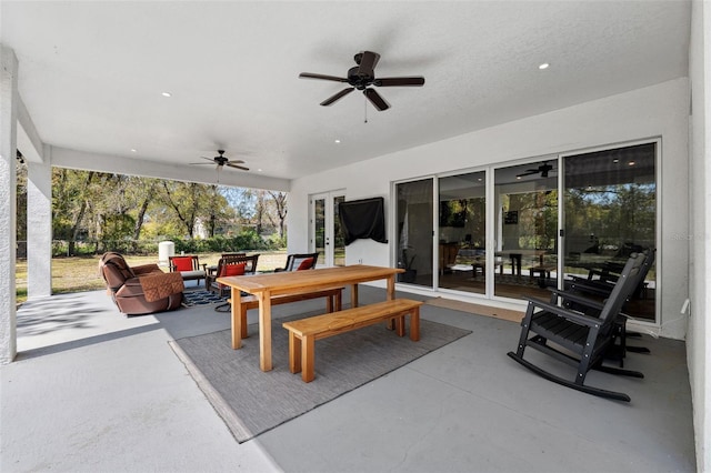
<svg viewBox="0 0 711 473">
<path fill-rule="evenodd" d="M 43 142 L 174 165 L 223 148 L 293 179 L 685 77 L 690 2 L 3 0 L 0 21 Z M 343 84 L 299 73 L 362 50 L 424 87 L 320 107 Z"/>
</svg>

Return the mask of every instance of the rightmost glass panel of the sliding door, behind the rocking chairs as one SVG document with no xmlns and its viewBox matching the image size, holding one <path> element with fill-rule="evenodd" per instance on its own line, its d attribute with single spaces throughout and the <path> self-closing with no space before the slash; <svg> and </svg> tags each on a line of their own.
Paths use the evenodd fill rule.
<svg viewBox="0 0 711 473">
<path fill-rule="evenodd" d="M 630 253 L 657 248 L 657 142 L 567 155 L 565 280 L 614 279 Z M 617 272 L 615 272 L 617 269 Z M 655 266 L 624 308 L 655 319 Z"/>
</svg>

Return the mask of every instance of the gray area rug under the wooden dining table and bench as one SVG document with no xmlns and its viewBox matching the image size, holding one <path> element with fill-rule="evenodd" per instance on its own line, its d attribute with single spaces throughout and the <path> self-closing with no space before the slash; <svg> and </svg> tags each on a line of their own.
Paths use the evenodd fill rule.
<svg viewBox="0 0 711 473">
<path fill-rule="evenodd" d="M 239 443 L 471 333 L 421 319 L 419 342 L 397 336 L 384 324 L 319 340 L 316 380 L 304 383 L 301 374 L 289 372 L 286 320 L 272 322 L 273 370 L 267 373 L 259 369 L 256 324 L 240 350 L 231 349 L 230 330 L 170 342 Z"/>
</svg>

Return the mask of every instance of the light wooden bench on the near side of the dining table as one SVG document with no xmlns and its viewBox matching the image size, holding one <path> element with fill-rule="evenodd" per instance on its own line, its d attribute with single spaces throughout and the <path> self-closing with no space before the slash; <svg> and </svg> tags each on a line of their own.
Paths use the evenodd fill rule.
<svg viewBox="0 0 711 473">
<path fill-rule="evenodd" d="M 289 369 L 301 372 L 303 382 L 313 381 L 316 341 L 379 322 L 395 322 L 399 336 L 404 336 L 404 316 L 410 315 L 410 340 L 420 340 L 420 305 L 410 299 L 393 299 L 308 319 L 284 322 L 289 331 Z"/>
</svg>

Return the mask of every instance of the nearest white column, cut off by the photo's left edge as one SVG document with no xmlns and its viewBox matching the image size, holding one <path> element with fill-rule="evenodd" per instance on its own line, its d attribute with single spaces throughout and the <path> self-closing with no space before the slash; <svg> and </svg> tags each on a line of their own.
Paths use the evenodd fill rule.
<svg viewBox="0 0 711 473">
<path fill-rule="evenodd" d="M 17 296 L 17 113 L 18 59 L 0 44 L 0 364 L 18 352 Z"/>
</svg>

